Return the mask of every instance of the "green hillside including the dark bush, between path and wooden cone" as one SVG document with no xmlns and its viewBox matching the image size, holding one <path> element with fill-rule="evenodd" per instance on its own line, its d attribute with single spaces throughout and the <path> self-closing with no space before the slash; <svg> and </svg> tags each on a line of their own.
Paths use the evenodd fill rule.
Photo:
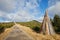
<svg viewBox="0 0 60 40">
<path fill-rule="evenodd" d="M 20 25 L 23 25 L 23 26 L 30 27 L 35 32 L 40 31 L 41 23 L 36 21 L 36 20 L 29 21 L 29 22 L 17 22 L 17 23 L 20 24 Z"/>
</svg>

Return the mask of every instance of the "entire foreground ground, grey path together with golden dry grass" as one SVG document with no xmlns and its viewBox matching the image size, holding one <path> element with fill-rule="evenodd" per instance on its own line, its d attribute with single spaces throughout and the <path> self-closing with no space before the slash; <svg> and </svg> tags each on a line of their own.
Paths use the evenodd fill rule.
<svg viewBox="0 0 60 40">
<path fill-rule="evenodd" d="M 42 35 L 40 33 L 34 32 L 29 27 L 16 24 L 12 28 L 6 29 L 6 31 L 0 35 L 0 40 L 9 40 L 9 39 L 10 40 L 60 40 L 60 35 L 52 35 L 52 36 Z"/>
</svg>

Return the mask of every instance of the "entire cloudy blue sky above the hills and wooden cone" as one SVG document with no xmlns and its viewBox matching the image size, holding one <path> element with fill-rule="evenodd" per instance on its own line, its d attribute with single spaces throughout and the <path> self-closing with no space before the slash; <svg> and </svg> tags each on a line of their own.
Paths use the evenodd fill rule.
<svg viewBox="0 0 60 40">
<path fill-rule="evenodd" d="M 60 0 L 0 0 L 0 22 L 42 22 L 46 9 L 50 18 L 60 15 Z"/>
</svg>

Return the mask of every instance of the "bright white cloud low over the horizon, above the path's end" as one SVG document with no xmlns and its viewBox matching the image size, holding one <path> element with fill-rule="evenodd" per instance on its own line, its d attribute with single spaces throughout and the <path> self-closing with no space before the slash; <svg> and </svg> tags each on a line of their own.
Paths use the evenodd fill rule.
<svg viewBox="0 0 60 40">
<path fill-rule="evenodd" d="M 33 20 L 34 16 L 28 14 L 26 11 L 21 11 L 8 15 L 8 18 L 11 19 L 11 21 L 30 21 Z"/>
</svg>

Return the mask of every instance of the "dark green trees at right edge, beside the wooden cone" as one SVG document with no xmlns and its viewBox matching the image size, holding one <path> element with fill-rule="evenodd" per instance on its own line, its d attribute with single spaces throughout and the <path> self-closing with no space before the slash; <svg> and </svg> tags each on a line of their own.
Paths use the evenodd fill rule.
<svg viewBox="0 0 60 40">
<path fill-rule="evenodd" d="M 54 26 L 54 29 L 56 31 L 56 33 L 60 34 L 60 16 L 59 15 L 55 15 L 53 20 L 52 20 L 52 24 Z"/>
</svg>

